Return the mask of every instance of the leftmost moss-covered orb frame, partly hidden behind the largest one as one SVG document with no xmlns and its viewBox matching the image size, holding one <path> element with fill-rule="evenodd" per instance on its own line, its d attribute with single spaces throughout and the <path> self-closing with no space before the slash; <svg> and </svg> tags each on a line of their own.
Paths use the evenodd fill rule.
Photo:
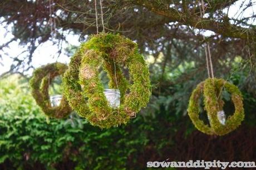
<svg viewBox="0 0 256 170">
<path fill-rule="evenodd" d="M 52 107 L 48 93 L 49 84 L 52 82 L 53 78 L 65 73 L 66 69 L 66 64 L 52 63 L 37 68 L 33 72 L 33 76 L 30 80 L 32 96 L 48 117 L 65 118 L 72 111 L 65 97 L 62 97 L 60 106 Z"/>
</svg>

